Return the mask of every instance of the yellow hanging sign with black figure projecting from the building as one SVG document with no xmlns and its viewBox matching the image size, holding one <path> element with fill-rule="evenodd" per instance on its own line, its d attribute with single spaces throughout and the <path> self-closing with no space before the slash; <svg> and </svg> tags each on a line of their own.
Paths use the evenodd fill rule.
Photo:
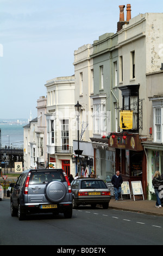
<svg viewBox="0 0 163 256">
<path fill-rule="evenodd" d="M 133 111 L 120 111 L 120 128 L 126 130 L 133 128 Z"/>
</svg>

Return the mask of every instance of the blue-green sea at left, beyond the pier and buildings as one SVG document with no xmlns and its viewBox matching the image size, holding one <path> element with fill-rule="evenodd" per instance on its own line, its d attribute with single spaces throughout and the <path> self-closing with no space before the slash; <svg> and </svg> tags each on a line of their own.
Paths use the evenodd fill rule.
<svg viewBox="0 0 163 256">
<path fill-rule="evenodd" d="M 23 149 L 23 126 L 27 123 L 0 123 L 1 147 Z"/>
</svg>

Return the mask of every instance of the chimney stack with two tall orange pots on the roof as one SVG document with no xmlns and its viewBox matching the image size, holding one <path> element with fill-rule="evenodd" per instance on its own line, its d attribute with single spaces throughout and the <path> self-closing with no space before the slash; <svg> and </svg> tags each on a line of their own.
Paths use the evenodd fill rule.
<svg viewBox="0 0 163 256">
<path fill-rule="evenodd" d="M 124 8 L 125 5 L 119 5 L 120 8 L 120 21 L 117 22 L 117 32 L 121 31 L 124 24 L 129 24 L 131 19 L 131 5 L 127 4 L 127 21 L 124 21 Z"/>
</svg>

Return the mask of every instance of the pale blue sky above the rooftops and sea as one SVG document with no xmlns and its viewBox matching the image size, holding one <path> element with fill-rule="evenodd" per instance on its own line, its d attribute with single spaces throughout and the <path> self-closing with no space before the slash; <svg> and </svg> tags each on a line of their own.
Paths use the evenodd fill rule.
<svg viewBox="0 0 163 256">
<path fill-rule="evenodd" d="M 0 119 L 37 117 L 46 82 L 72 76 L 74 51 L 116 33 L 129 3 L 131 18 L 163 12 L 162 0 L 0 0 Z"/>
</svg>

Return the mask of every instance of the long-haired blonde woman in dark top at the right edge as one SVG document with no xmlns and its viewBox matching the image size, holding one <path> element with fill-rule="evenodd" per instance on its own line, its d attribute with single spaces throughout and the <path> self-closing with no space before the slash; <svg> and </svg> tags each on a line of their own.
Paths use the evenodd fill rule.
<svg viewBox="0 0 163 256">
<path fill-rule="evenodd" d="M 156 208 L 161 208 L 161 199 L 159 198 L 159 186 L 163 185 L 163 179 L 161 177 L 161 174 L 158 170 L 156 170 L 153 180 L 152 180 L 152 185 L 154 186 L 154 192 L 156 194 L 156 203 L 155 207 Z"/>
</svg>

